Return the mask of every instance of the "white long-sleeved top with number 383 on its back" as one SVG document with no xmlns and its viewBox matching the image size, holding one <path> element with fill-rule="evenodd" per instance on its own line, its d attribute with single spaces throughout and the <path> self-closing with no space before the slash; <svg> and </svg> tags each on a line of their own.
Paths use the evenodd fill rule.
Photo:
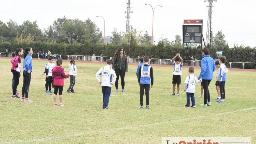
<svg viewBox="0 0 256 144">
<path fill-rule="evenodd" d="M 115 83 L 115 80 L 116 80 L 115 71 L 108 65 L 100 68 L 99 71 L 95 74 L 98 82 L 100 82 L 100 79 L 99 79 L 100 75 L 102 75 L 102 83 L 101 83 L 102 86 L 112 87 L 112 85 Z"/>
</svg>

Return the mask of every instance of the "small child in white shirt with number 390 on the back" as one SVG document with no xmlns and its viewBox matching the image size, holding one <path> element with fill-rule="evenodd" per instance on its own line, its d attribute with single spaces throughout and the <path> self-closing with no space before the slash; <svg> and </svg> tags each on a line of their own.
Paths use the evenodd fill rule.
<svg viewBox="0 0 256 144">
<path fill-rule="evenodd" d="M 185 80 L 185 86 L 184 86 L 184 91 L 187 92 L 187 104 L 185 107 L 189 108 L 190 107 L 190 98 L 192 102 L 193 108 L 195 108 L 195 83 L 198 83 L 200 80 L 197 79 L 197 77 L 194 75 L 194 67 L 189 67 L 189 75 L 186 77 Z"/>
</svg>

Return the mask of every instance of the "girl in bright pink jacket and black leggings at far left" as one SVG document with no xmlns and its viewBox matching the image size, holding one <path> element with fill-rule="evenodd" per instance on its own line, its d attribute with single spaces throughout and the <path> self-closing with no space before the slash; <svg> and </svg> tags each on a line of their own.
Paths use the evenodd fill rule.
<svg viewBox="0 0 256 144">
<path fill-rule="evenodd" d="M 20 56 L 22 55 L 23 55 L 23 49 L 19 47 L 15 51 L 15 56 L 11 59 L 11 63 L 12 63 L 11 72 L 13 73 L 13 79 L 14 79 L 12 98 L 19 98 L 17 93 L 17 86 L 19 85 L 19 77 L 21 74 Z"/>
</svg>

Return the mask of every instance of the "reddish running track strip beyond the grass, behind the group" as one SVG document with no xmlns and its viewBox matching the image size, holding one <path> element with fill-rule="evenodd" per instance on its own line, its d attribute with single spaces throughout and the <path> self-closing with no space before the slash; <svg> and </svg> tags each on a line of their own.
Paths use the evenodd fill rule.
<svg viewBox="0 0 256 144">
<path fill-rule="evenodd" d="M 11 59 L 10 57 L 1 57 L 0 59 Z M 47 59 L 41 59 L 41 58 L 32 58 L 33 61 L 48 61 Z M 70 62 L 70 60 L 63 60 L 65 62 Z M 106 62 L 99 62 L 99 61 L 76 61 L 76 63 L 102 63 L 106 64 Z M 137 63 L 128 63 L 128 65 L 138 65 Z M 174 65 L 155 65 L 152 64 L 154 67 L 174 67 Z M 189 68 L 190 66 L 183 66 L 184 68 Z M 201 69 L 201 67 L 194 66 L 195 69 Z M 246 72 L 256 72 L 255 69 L 240 69 L 240 68 L 228 68 L 228 70 L 234 70 L 234 71 L 246 71 Z"/>
</svg>

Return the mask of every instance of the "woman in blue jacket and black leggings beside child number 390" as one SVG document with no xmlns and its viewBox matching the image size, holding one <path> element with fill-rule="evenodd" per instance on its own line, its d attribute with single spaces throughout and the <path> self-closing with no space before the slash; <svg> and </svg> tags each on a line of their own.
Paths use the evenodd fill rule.
<svg viewBox="0 0 256 144">
<path fill-rule="evenodd" d="M 201 60 L 201 72 L 198 77 L 199 79 L 202 79 L 202 85 L 204 88 L 204 103 L 200 104 L 200 106 L 210 106 L 211 100 L 210 100 L 210 92 L 208 89 L 208 86 L 213 78 L 213 72 L 215 70 L 215 63 L 213 59 L 209 56 L 209 49 L 204 48 L 202 50 L 202 60 Z"/>
</svg>

